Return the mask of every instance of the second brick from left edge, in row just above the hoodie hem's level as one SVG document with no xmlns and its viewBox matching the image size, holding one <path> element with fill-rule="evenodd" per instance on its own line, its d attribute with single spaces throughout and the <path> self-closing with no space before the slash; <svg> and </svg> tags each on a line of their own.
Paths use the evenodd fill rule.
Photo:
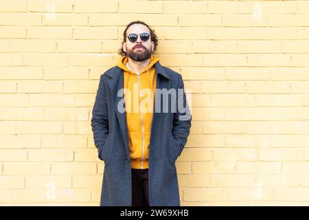
<svg viewBox="0 0 309 220">
<path fill-rule="evenodd" d="M 39 149 L 28 152 L 30 162 L 71 162 L 74 153 L 67 149 Z"/>
</svg>

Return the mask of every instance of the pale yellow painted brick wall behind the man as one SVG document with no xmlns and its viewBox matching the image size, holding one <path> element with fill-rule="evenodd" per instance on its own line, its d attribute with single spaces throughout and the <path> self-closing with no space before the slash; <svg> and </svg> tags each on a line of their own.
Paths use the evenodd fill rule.
<svg viewBox="0 0 309 220">
<path fill-rule="evenodd" d="M 309 205 L 309 1 L 0 0 L 0 205 L 98 206 L 100 75 L 130 21 L 192 94 L 183 206 Z"/>
</svg>

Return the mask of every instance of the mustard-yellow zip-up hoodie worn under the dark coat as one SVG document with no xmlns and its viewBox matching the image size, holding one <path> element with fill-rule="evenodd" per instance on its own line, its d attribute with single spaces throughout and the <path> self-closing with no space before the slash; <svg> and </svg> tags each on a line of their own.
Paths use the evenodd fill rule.
<svg viewBox="0 0 309 220">
<path fill-rule="evenodd" d="M 131 168 L 148 168 L 152 111 L 157 83 L 155 63 L 158 61 L 159 57 L 151 55 L 150 63 L 139 75 L 128 67 L 128 56 L 124 56 L 117 63 L 117 67 L 124 70 L 124 100 Z"/>
</svg>

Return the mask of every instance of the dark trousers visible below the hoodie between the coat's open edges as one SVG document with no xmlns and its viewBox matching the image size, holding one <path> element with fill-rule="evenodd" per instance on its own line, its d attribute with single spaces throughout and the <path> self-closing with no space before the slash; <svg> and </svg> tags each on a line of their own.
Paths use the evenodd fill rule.
<svg viewBox="0 0 309 220">
<path fill-rule="evenodd" d="M 132 206 L 149 206 L 148 169 L 132 171 Z"/>
</svg>

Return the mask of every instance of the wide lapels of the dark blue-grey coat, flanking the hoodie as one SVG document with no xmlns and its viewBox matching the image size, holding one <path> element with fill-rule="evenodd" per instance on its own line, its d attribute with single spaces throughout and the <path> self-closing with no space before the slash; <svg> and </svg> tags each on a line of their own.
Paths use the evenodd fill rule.
<svg viewBox="0 0 309 220">
<path fill-rule="evenodd" d="M 170 80 L 170 76 L 168 76 L 168 73 L 165 72 L 165 70 L 163 69 L 163 67 L 160 65 L 159 62 L 155 63 L 155 69 L 156 69 L 156 80 L 157 80 L 156 91 L 157 91 L 157 89 L 161 89 L 160 86 L 161 79 L 159 75 L 167 78 L 168 80 Z M 106 75 L 111 76 L 111 79 L 108 80 L 108 86 L 111 89 L 111 94 L 113 96 L 113 105 L 117 114 L 117 118 L 119 120 L 122 137 L 124 138 L 124 143 L 126 145 L 126 152 L 128 153 L 128 155 L 130 155 L 128 146 L 128 130 L 126 126 L 126 113 L 125 112 L 121 113 L 117 109 L 118 103 L 121 102 L 123 98 L 123 96 L 117 96 L 118 91 L 124 88 L 123 70 L 116 66 L 114 72 L 106 72 Z M 157 97 L 157 93 L 155 94 L 155 97 Z M 155 101 L 157 102 L 157 98 L 155 98 Z M 154 103 L 153 106 L 152 123 L 155 123 L 157 120 L 159 120 L 158 117 L 160 116 L 160 114 L 155 113 L 156 102 Z"/>
</svg>

